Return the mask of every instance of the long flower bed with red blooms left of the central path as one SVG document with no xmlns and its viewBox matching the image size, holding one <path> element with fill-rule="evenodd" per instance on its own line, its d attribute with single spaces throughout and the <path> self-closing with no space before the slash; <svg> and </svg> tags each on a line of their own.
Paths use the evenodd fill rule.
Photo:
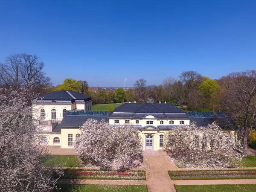
<svg viewBox="0 0 256 192">
<path fill-rule="evenodd" d="M 145 180 L 145 171 L 100 171 L 87 169 L 64 169 L 63 179 L 111 179 L 111 180 Z"/>
</svg>

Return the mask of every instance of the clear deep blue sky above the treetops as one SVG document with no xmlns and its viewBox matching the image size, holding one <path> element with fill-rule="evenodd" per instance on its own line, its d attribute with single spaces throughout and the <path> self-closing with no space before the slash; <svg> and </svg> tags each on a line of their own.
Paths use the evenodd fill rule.
<svg viewBox="0 0 256 192">
<path fill-rule="evenodd" d="M 0 61 L 36 54 L 53 84 L 161 84 L 256 69 L 256 0 L 0 0 Z"/>
</svg>

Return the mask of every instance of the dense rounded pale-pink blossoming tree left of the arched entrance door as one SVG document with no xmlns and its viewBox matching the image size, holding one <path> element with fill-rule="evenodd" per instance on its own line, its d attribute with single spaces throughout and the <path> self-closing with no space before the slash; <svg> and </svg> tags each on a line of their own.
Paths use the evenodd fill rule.
<svg viewBox="0 0 256 192">
<path fill-rule="evenodd" d="M 84 163 L 126 171 L 143 161 L 141 138 L 132 125 L 113 127 L 104 121 L 88 119 L 80 131 L 75 151 Z"/>
</svg>

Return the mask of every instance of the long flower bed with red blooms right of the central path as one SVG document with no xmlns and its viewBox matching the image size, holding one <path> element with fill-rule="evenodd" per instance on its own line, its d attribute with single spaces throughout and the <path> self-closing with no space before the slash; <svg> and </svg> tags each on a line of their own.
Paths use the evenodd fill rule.
<svg viewBox="0 0 256 192">
<path fill-rule="evenodd" d="M 168 171 L 172 180 L 256 179 L 256 169 Z"/>
</svg>

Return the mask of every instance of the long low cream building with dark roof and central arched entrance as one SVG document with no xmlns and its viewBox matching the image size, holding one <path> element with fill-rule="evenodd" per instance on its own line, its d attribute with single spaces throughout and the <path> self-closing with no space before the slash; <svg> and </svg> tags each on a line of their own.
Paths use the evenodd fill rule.
<svg viewBox="0 0 256 192">
<path fill-rule="evenodd" d="M 57 102 L 52 103 L 48 112 L 56 108 L 53 106 L 55 103 Z M 58 110 L 61 111 L 62 108 Z M 213 112 L 184 112 L 175 105 L 167 103 L 125 103 L 115 108 L 114 111 L 91 111 L 91 108 L 84 108 L 83 111 L 71 108 L 71 110 L 65 111 L 63 116 L 61 123 L 48 123 L 46 125 L 48 128 L 45 128 L 44 137 L 48 145 L 73 148 L 73 141 L 80 134 L 79 127 L 87 119 L 92 118 L 98 121 L 104 119 L 116 126 L 132 124 L 138 128 L 144 150 L 159 150 L 163 148 L 166 131 L 179 125 L 189 125 L 191 122 L 195 122 L 198 126 L 207 126 L 216 118 L 225 118 L 228 115 L 227 113 Z M 233 129 L 227 128 L 225 131 L 227 134 L 235 135 Z"/>
</svg>

